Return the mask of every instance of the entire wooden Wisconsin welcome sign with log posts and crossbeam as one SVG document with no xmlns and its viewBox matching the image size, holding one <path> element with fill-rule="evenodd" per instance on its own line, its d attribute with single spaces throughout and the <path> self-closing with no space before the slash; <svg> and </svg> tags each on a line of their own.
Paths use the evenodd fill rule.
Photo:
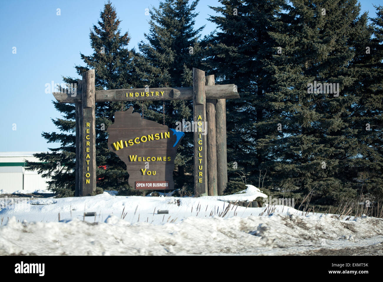
<svg viewBox="0 0 383 282">
<path fill-rule="evenodd" d="M 239 98 L 237 86 L 215 85 L 214 75 L 205 76 L 204 71 L 193 68 L 193 87 L 148 90 L 96 91 L 95 70 L 90 69 L 79 79 L 77 94 L 53 93 L 59 103 L 76 104 L 75 196 L 89 196 L 96 190 L 95 103 L 144 100 L 193 100 L 193 121 L 198 127 L 207 123 L 206 135 L 201 134 L 201 128 L 193 133 L 195 195 L 222 195 L 228 182 L 226 99 Z M 115 113 L 115 124 L 107 129 L 109 149 L 126 163 L 130 186 L 145 190 L 173 189 L 174 158 L 183 133 L 141 119 L 132 110 Z"/>
</svg>

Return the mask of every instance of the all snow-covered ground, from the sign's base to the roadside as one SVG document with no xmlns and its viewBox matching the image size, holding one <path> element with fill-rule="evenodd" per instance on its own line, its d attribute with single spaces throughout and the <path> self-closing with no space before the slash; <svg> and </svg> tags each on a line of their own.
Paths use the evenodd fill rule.
<svg viewBox="0 0 383 282">
<path fill-rule="evenodd" d="M 0 255 L 336 254 L 355 248 L 379 254 L 383 250 L 382 219 L 305 216 L 286 206 L 228 208 L 229 203 L 213 197 L 110 194 L 35 199 L 3 208 Z M 83 221 L 84 212 L 96 216 Z"/>
</svg>

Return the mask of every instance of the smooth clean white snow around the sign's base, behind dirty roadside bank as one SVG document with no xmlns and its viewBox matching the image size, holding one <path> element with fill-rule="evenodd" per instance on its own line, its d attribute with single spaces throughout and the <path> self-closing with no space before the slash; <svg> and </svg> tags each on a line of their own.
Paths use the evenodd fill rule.
<svg viewBox="0 0 383 282">
<path fill-rule="evenodd" d="M 254 186 L 253 186 L 254 187 Z M 243 198 L 254 198 L 251 192 L 252 187 L 248 188 Z M 252 194 L 253 196 L 249 196 Z M 236 195 L 234 195 L 236 196 Z M 239 199 L 242 196 L 239 197 Z M 236 198 L 237 199 L 237 198 Z M 1 199 L 0 199 L 1 200 Z M 234 199 L 232 199 L 234 201 Z M 68 198 L 36 198 L 29 201 L 18 201 L 11 206 L 5 203 L 0 205 L 0 217 L 4 218 L 3 224 L 7 223 L 8 218 L 16 217 L 16 220 L 27 221 L 58 221 L 60 219 L 83 219 L 85 212 L 95 212 L 96 218 L 85 218 L 88 222 L 104 221 L 107 216 L 114 214 L 130 222 L 147 221 L 153 224 L 160 224 L 167 220 L 176 222 L 189 216 L 209 217 L 223 215 L 229 203 L 215 200 L 215 197 L 143 197 L 143 196 L 115 196 L 108 192 L 96 196 L 88 197 L 68 197 Z M 157 210 L 168 210 L 169 214 L 157 214 Z M 287 212 L 298 213 L 296 209 L 286 206 L 273 206 L 273 211 L 286 214 Z M 243 206 L 231 205 L 225 217 L 230 216 L 250 216 L 267 215 L 265 208 L 246 208 Z"/>
</svg>

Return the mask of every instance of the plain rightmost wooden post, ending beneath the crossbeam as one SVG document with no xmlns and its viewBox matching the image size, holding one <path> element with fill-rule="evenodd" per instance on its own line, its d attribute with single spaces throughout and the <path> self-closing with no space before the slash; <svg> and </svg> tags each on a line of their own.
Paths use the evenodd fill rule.
<svg viewBox="0 0 383 282">
<path fill-rule="evenodd" d="M 217 140 L 217 186 L 222 195 L 228 184 L 228 160 L 226 151 L 226 99 L 216 102 L 216 140 Z"/>
</svg>

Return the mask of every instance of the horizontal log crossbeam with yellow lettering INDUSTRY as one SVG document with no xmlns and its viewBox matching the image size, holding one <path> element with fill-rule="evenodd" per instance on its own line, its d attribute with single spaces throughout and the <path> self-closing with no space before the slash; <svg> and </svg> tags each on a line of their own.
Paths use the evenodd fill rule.
<svg viewBox="0 0 383 282">
<path fill-rule="evenodd" d="M 239 98 L 235 84 L 206 85 L 206 99 L 237 99 Z M 148 90 L 148 91 L 145 91 Z M 53 96 L 59 103 L 81 103 L 81 90 L 76 95 L 70 93 L 53 92 Z M 143 96 L 142 96 L 143 95 Z M 128 97 L 126 97 L 128 96 Z M 132 97 L 133 96 L 133 97 Z M 116 101 L 163 101 L 163 100 L 193 100 L 193 87 L 159 87 L 159 88 L 128 88 L 97 90 L 97 102 Z"/>
</svg>

